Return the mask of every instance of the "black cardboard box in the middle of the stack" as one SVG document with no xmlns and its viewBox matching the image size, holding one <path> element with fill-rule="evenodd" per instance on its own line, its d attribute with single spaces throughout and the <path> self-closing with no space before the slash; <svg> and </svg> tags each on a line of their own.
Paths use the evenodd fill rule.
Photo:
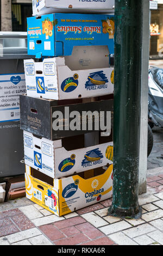
<svg viewBox="0 0 163 256">
<path fill-rule="evenodd" d="M 20 95 L 21 129 L 52 141 L 93 131 L 110 131 L 112 111 L 113 100 L 98 97 L 83 103 L 80 99 L 57 101 Z"/>
</svg>

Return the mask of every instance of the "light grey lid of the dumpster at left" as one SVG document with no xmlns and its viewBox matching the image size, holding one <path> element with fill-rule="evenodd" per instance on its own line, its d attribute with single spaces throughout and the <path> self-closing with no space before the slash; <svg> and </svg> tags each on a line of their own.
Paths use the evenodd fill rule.
<svg viewBox="0 0 163 256">
<path fill-rule="evenodd" d="M 27 58 L 27 32 L 0 32 L 0 59 Z"/>
</svg>

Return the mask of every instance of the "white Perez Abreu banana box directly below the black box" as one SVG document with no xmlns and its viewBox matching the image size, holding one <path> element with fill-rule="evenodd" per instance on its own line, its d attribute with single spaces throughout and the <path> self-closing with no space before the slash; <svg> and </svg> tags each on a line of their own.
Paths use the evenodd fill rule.
<svg viewBox="0 0 163 256">
<path fill-rule="evenodd" d="M 61 178 L 112 163 L 112 142 L 84 147 L 84 135 L 50 141 L 27 131 L 23 134 L 25 163 L 51 178 Z"/>
</svg>

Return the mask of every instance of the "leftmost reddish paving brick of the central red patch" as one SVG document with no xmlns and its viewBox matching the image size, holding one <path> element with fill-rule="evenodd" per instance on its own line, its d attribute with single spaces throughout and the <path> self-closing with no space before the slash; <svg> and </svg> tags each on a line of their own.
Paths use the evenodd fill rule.
<svg viewBox="0 0 163 256">
<path fill-rule="evenodd" d="M 55 228 L 53 224 L 42 225 L 39 227 L 39 229 L 43 232 L 43 234 L 51 239 L 51 241 L 66 237 L 64 234 L 61 233 L 61 231 Z"/>
</svg>

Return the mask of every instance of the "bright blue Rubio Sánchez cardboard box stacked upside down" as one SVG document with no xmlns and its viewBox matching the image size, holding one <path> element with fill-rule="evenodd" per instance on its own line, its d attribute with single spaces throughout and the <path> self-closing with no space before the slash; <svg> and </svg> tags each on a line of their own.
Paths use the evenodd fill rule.
<svg viewBox="0 0 163 256">
<path fill-rule="evenodd" d="M 48 14 L 27 18 L 28 54 L 70 56 L 74 46 L 108 46 L 114 53 L 114 15 Z"/>
</svg>

